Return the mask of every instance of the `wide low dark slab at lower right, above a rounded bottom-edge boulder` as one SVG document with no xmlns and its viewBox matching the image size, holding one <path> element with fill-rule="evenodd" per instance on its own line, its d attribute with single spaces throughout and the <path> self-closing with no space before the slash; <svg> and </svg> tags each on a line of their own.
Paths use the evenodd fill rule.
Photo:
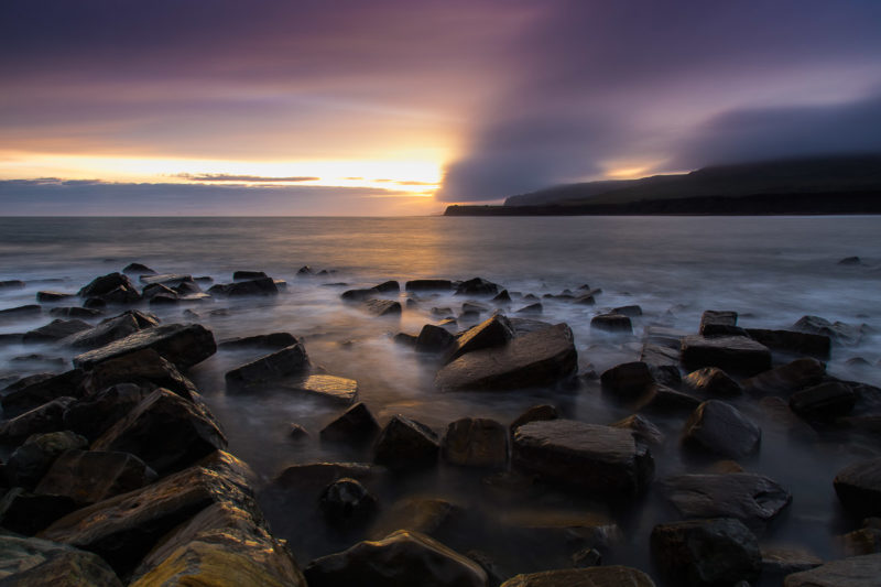
<svg viewBox="0 0 881 587">
<path fill-rule="evenodd" d="M 683 518 L 736 518 L 757 534 L 792 501 L 776 482 L 750 472 L 681 475 L 660 486 Z"/>
</svg>

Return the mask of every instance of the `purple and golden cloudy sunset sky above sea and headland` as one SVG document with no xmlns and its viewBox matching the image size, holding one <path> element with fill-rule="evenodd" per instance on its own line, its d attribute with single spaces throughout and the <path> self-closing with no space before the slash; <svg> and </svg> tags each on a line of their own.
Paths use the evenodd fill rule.
<svg viewBox="0 0 881 587">
<path fill-rule="evenodd" d="M 423 215 L 881 152 L 877 0 L 6 0 L 6 215 Z"/>
</svg>

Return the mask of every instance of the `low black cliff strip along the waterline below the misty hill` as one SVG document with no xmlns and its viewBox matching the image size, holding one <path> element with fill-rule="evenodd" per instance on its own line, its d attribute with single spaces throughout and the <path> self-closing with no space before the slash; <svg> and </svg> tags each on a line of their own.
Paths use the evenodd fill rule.
<svg viewBox="0 0 881 587">
<path fill-rule="evenodd" d="M 622 204 L 448 206 L 444 216 L 784 216 L 881 214 L 881 194 L 757 194 L 645 199 Z"/>
</svg>

